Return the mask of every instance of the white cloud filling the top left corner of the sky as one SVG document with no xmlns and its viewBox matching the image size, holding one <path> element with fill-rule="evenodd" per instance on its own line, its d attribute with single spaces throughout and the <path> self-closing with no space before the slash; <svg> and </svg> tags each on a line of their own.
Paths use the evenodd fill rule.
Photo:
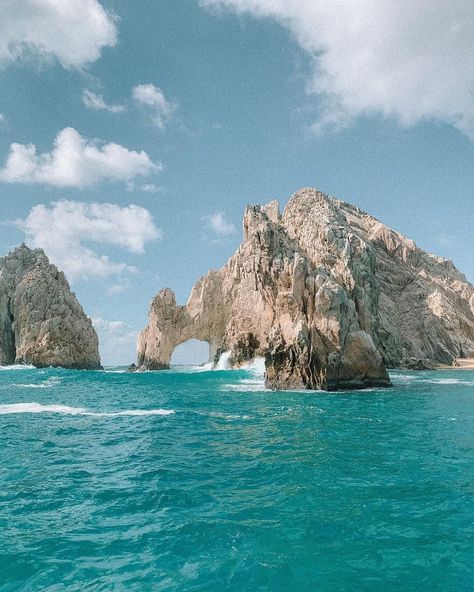
<svg viewBox="0 0 474 592">
<path fill-rule="evenodd" d="M 1 3 L 1 14 L 4 62 L 32 53 L 80 68 L 117 42 L 115 19 L 97 0 L 7 0 Z"/>
</svg>

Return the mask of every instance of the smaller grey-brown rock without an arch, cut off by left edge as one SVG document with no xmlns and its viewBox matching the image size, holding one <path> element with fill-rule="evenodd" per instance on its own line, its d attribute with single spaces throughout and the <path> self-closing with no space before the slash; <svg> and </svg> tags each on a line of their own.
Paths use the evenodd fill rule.
<svg viewBox="0 0 474 592">
<path fill-rule="evenodd" d="M 97 334 L 41 249 L 0 258 L 0 365 L 100 368 Z"/>
</svg>

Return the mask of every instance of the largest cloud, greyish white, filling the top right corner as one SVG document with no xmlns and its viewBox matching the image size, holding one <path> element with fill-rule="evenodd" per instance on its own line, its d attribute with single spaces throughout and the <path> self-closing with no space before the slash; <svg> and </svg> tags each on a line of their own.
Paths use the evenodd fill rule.
<svg viewBox="0 0 474 592">
<path fill-rule="evenodd" d="M 453 125 L 474 140 L 472 0 L 201 0 L 270 17 L 313 58 L 314 126 L 341 128 L 382 114 L 411 126 Z"/>
</svg>

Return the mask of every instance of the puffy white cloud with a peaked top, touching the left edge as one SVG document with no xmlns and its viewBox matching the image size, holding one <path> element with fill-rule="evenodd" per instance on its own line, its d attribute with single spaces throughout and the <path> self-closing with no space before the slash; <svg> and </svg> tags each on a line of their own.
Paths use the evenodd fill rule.
<svg viewBox="0 0 474 592">
<path fill-rule="evenodd" d="M 114 143 L 100 145 L 67 127 L 56 136 L 51 152 L 37 154 L 34 144 L 13 143 L 0 181 L 87 187 L 104 180 L 129 181 L 160 169 L 146 152 Z"/>
</svg>

